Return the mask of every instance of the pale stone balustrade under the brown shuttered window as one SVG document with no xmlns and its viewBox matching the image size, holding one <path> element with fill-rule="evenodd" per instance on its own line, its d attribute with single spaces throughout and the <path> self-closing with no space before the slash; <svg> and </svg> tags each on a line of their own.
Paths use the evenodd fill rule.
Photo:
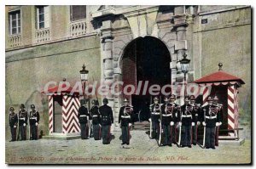
<svg viewBox="0 0 256 169">
<path fill-rule="evenodd" d="M 70 23 L 70 36 L 77 37 L 86 33 L 86 20 L 77 20 Z"/>
</svg>

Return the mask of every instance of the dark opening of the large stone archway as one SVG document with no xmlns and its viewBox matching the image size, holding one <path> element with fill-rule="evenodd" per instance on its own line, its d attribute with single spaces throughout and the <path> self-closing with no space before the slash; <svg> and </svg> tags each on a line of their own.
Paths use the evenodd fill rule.
<svg viewBox="0 0 256 169">
<path fill-rule="evenodd" d="M 148 81 L 145 94 L 143 94 L 143 88 L 141 88 L 140 93 L 123 95 L 123 97 L 131 100 L 135 113 L 141 113 L 141 115 L 136 115 L 140 116 L 141 121 L 148 120 L 150 116 L 149 104 L 152 104 L 153 96 L 148 93 L 148 88 L 154 84 L 160 85 L 160 87 L 171 84 L 170 62 L 171 55 L 168 48 L 155 37 L 138 37 L 125 48 L 120 62 L 123 87 L 131 84 L 138 89 L 140 81 L 142 87 Z M 135 120 L 138 121 L 139 119 Z"/>
</svg>

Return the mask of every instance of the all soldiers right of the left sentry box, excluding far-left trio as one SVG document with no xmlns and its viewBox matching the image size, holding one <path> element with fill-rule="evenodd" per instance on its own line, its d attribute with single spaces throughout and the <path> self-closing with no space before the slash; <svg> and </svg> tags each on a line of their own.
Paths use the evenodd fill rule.
<svg viewBox="0 0 256 169">
<path fill-rule="evenodd" d="M 184 99 L 184 104 L 176 104 L 176 97 L 165 97 L 165 103 L 160 104 L 157 97 L 154 104 L 150 105 L 150 138 L 156 138 L 160 146 L 189 147 L 197 144 L 198 126 L 204 127 L 203 147 L 215 149 L 218 145 L 218 127 L 222 124 L 222 104 L 218 104 L 218 98 L 209 97 L 207 105 L 195 104 L 195 96 Z M 85 103 L 79 108 L 79 122 L 81 127 L 81 138 L 90 138 L 90 124 L 92 123 L 93 136 L 102 143 L 109 144 L 111 139 L 110 127 L 113 124 L 113 112 L 108 106 L 108 99 L 103 99 L 103 105 L 98 106 L 94 100 L 90 112 Z M 124 106 L 119 110 L 119 127 L 122 131 L 122 144 L 130 144 L 130 131 L 133 122 L 133 107 L 129 100 L 124 99 Z M 102 133 L 101 133 L 102 132 Z"/>
</svg>

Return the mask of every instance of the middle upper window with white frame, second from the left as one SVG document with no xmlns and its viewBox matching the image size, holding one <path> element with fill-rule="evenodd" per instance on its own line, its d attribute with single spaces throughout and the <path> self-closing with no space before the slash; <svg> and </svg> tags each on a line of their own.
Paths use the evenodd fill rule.
<svg viewBox="0 0 256 169">
<path fill-rule="evenodd" d="M 49 6 L 37 6 L 38 29 L 49 27 Z"/>
</svg>

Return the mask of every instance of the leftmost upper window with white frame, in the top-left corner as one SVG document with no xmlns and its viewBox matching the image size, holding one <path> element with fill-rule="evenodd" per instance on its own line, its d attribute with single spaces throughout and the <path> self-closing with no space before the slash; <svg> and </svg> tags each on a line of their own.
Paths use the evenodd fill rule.
<svg viewBox="0 0 256 169">
<path fill-rule="evenodd" d="M 20 10 L 9 13 L 9 34 L 20 33 Z"/>
</svg>

